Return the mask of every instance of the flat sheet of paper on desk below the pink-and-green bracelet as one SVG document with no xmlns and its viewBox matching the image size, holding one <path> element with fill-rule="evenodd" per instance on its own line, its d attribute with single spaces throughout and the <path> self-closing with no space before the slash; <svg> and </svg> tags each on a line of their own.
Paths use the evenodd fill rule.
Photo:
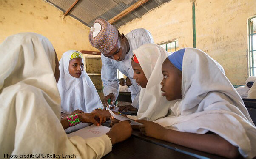
<svg viewBox="0 0 256 159">
<path fill-rule="evenodd" d="M 83 128 L 83 129 L 77 130 L 76 132 L 72 132 L 72 133 L 68 134 L 68 137 L 80 136 L 84 139 L 87 139 L 90 137 L 100 137 L 100 136 L 106 134 L 109 130 L 110 130 L 110 128 L 108 128 L 107 126 L 91 125 L 91 126 L 87 126 L 87 127 Z"/>
</svg>

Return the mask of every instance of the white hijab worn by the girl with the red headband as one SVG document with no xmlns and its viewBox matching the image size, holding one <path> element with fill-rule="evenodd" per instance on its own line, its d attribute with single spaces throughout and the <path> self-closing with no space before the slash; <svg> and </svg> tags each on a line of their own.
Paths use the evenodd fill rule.
<svg viewBox="0 0 256 159">
<path fill-rule="evenodd" d="M 133 51 L 148 79 L 146 88 L 141 88 L 139 95 L 138 119 L 154 121 L 165 117 L 170 107 L 170 101 L 162 96 L 162 63 L 168 53 L 156 44 L 144 44 Z"/>
</svg>

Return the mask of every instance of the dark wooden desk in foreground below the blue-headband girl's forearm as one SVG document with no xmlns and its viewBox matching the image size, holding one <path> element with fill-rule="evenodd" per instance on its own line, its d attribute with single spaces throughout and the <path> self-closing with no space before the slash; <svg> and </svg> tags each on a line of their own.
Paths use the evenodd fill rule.
<svg viewBox="0 0 256 159">
<path fill-rule="evenodd" d="M 109 126 L 109 123 L 103 125 Z M 225 159 L 163 140 L 146 137 L 134 130 L 129 139 L 113 145 L 102 159 Z M 239 156 L 238 159 L 242 159 Z"/>
</svg>

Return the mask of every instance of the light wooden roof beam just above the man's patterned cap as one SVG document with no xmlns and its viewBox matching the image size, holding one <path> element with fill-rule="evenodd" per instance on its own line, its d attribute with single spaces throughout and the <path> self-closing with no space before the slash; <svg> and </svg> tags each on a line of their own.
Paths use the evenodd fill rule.
<svg viewBox="0 0 256 159">
<path fill-rule="evenodd" d="M 138 2 L 134 3 L 133 5 L 131 5 L 130 7 L 126 8 L 125 10 L 123 10 L 121 13 L 117 14 L 116 16 L 114 16 L 113 18 L 111 18 L 108 22 L 110 24 L 113 24 L 114 22 L 118 21 L 119 19 L 121 19 L 122 17 L 126 16 L 127 14 L 131 13 L 132 11 L 134 11 L 136 8 L 138 8 L 139 6 L 141 6 L 142 4 L 148 2 L 149 0 L 139 0 Z"/>
</svg>

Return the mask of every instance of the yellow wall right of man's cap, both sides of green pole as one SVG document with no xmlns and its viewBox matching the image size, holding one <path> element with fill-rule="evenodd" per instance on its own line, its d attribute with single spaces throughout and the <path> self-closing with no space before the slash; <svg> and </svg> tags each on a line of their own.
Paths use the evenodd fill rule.
<svg viewBox="0 0 256 159">
<path fill-rule="evenodd" d="M 233 85 L 248 77 L 247 18 L 255 6 L 255 0 L 195 0 L 196 48 L 217 60 Z M 177 38 L 179 48 L 193 47 L 192 0 L 171 0 L 119 31 L 136 28 L 149 30 L 157 44 Z"/>
</svg>

